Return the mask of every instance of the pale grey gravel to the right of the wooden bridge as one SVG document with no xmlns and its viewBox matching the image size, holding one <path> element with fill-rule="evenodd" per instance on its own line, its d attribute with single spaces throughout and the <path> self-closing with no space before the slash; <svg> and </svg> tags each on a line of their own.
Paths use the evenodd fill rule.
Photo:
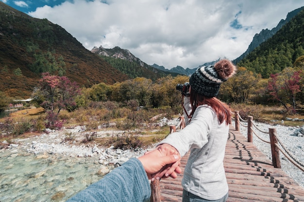
<svg viewBox="0 0 304 202">
<path fill-rule="evenodd" d="M 232 123 L 235 125 L 235 123 Z M 245 125 L 240 126 L 240 132 L 247 137 L 247 123 L 241 122 Z M 298 161 L 304 163 L 304 137 L 299 134 L 299 131 L 303 131 L 303 126 L 290 127 L 285 125 L 270 125 L 253 121 L 253 144 L 264 153 L 269 159 L 271 159 L 270 144 L 262 140 L 270 141 L 269 128 L 275 128 L 279 140 L 281 140 L 284 147 L 297 158 Z M 263 132 L 261 132 L 263 131 Z M 262 140 L 260 140 L 259 136 Z M 304 171 L 301 171 L 293 163 L 291 163 L 287 157 L 280 152 L 280 160 L 282 170 L 285 171 L 291 178 L 293 178 L 300 186 L 304 187 Z"/>
</svg>

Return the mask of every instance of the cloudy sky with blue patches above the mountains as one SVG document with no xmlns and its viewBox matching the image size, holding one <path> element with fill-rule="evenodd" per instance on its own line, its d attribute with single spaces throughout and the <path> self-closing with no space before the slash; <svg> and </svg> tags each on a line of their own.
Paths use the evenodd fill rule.
<svg viewBox="0 0 304 202">
<path fill-rule="evenodd" d="M 147 64 L 234 60 L 304 0 L 1 0 L 58 24 L 91 50 L 120 47 Z"/>
</svg>

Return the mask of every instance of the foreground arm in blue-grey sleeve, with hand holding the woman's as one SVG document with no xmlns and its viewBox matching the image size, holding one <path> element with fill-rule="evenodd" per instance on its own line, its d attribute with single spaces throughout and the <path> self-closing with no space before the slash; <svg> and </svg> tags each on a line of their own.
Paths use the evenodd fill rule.
<svg viewBox="0 0 304 202">
<path fill-rule="evenodd" d="M 167 164 L 178 161 L 178 155 L 167 155 L 160 151 L 131 158 L 122 166 L 106 174 L 100 181 L 88 186 L 68 202 L 143 202 L 151 196 L 148 180 L 151 174 Z M 178 167 L 177 173 L 181 169 Z"/>
</svg>

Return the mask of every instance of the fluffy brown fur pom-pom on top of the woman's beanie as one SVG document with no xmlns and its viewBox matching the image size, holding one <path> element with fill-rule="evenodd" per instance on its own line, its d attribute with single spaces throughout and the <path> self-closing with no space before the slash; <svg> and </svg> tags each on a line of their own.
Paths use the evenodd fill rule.
<svg viewBox="0 0 304 202">
<path fill-rule="evenodd" d="M 215 63 L 214 69 L 218 72 L 220 78 L 227 79 L 236 73 L 236 66 L 229 60 L 220 60 Z"/>
</svg>

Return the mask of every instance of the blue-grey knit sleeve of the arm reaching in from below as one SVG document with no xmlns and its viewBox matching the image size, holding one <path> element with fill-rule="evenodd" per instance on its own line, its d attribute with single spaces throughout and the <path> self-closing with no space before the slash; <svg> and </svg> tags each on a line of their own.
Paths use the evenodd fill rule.
<svg viewBox="0 0 304 202">
<path fill-rule="evenodd" d="M 131 158 L 67 202 L 143 202 L 150 196 L 151 187 L 143 165 L 137 158 Z"/>
</svg>

